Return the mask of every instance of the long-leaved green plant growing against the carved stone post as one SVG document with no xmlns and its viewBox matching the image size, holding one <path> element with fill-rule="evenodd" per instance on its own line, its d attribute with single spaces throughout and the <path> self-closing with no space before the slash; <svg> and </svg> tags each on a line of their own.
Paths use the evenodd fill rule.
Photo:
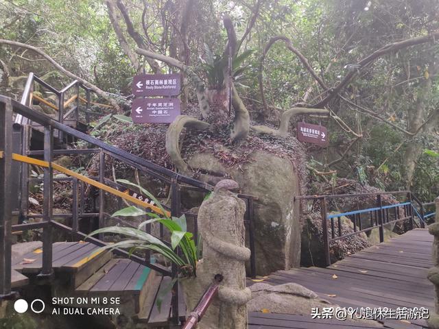
<svg viewBox="0 0 439 329">
<path fill-rule="evenodd" d="M 130 254 L 135 250 L 150 250 L 161 254 L 167 258 L 171 263 L 174 263 L 180 269 L 180 276 L 191 277 L 196 276 L 196 265 L 198 262 L 199 251 L 193 241 L 193 234 L 187 232 L 187 222 L 185 215 L 180 217 L 167 216 L 167 211 L 163 208 L 160 202 L 149 191 L 145 190 L 142 186 L 134 184 L 128 180 L 117 180 L 123 184 L 135 186 L 139 188 L 139 191 L 147 197 L 150 197 L 158 208 L 161 209 L 163 215 L 157 215 L 154 212 L 146 212 L 145 210 L 138 208 L 137 206 L 129 206 L 115 212 L 112 216 L 122 217 L 137 217 L 145 216 L 152 217 L 147 221 L 143 221 L 139 224 L 138 228 L 127 228 L 121 226 L 110 226 L 108 228 L 100 228 L 91 232 L 89 236 L 93 236 L 99 233 L 111 233 L 121 234 L 128 237 L 127 240 L 120 241 L 111 245 L 101 247 L 99 250 L 122 248 L 128 249 Z M 145 232 L 143 229 L 150 223 L 161 223 L 171 234 L 171 243 L 165 243 L 156 236 Z M 181 254 L 178 253 L 178 247 L 181 250 Z"/>
</svg>

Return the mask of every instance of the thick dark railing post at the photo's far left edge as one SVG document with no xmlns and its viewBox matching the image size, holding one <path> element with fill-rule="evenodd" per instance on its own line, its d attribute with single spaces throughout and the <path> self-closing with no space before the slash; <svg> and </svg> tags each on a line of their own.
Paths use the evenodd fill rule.
<svg viewBox="0 0 439 329">
<path fill-rule="evenodd" d="M 0 103 L 0 300 L 11 295 L 12 106 Z"/>
</svg>

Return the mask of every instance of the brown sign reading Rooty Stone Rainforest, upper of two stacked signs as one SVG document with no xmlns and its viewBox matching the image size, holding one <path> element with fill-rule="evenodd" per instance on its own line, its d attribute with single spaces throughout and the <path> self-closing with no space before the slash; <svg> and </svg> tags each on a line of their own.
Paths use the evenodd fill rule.
<svg viewBox="0 0 439 329">
<path fill-rule="evenodd" d="M 134 96 L 176 96 L 180 93 L 181 76 L 174 74 L 141 74 L 132 80 Z"/>
</svg>

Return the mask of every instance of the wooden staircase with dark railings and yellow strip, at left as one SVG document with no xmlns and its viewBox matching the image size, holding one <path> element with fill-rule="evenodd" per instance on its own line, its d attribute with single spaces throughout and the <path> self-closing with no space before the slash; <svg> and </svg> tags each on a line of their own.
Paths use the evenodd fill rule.
<svg viewBox="0 0 439 329">
<path fill-rule="evenodd" d="M 58 95 L 58 115 L 43 114 L 32 108 L 32 86 L 35 83 Z M 90 226 L 84 226 L 84 223 L 94 222 L 95 229 L 106 226 L 108 219 L 117 221 L 117 218 L 105 211 L 106 195 L 126 199 L 132 204 L 161 213 L 152 204 L 133 197 L 127 186 L 106 177 L 105 164 L 108 159 L 122 162 L 169 186 L 170 206 L 165 207 L 165 211 L 173 216 L 185 213 L 188 221 L 193 221 L 195 241 L 198 241 L 196 215 L 182 209 L 180 195 L 187 190 L 200 193 L 202 197 L 212 191 L 213 186 L 160 167 L 85 134 L 88 121 L 82 121 L 82 117 L 89 119 L 91 115 L 88 112 L 91 104 L 90 90 L 85 89 L 87 96 L 84 116 L 80 115 L 83 109 L 78 106 L 79 101 L 76 107 L 64 114 L 64 107 L 67 108 L 69 102 L 72 102 L 72 97 L 64 102 L 64 96 L 73 87 L 78 89 L 76 99 L 80 99 L 79 90 L 84 86 L 78 82 L 72 82 L 58 91 L 31 74 L 21 103 L 0 95 L 0 236 L 3 238 L 0 239 L 0 299 L 13 296 L 12 289 L 21 291 L 34 284 L 49 284 L 52 297 L 121 297 L 123 313 L 126 315 L 127 310 L 132 310 L 132 321 L 146 324 L 148 328 L 170 324 L 177 326 L 185 320 L 186 308 L 178 283 L 171 279 L 176 276 L 176 267 L 155 263 L 149 254 L 140 257 L 130 255 L 123 249 L 98 252 L 99 247 L 108 244 L 109 237 L 88 237 Z M 38 100 L 41 99 L 39 97 Z M 73 119 L 69 119 L 69 116 L 73 116 Z M 10 125 L 12 121 L 13 126 Z M 82 141 L 87 148 L 73 149 L 73 141 Z M 99 157 L 99 172 L 95 177 L 81 175 L 54 162 L 56 156 L 77 154 Z M 42 167 L 44 177 L 29 178 L 29 164 Z M 64 173 L 66 177 L 55 177 L 54 172 Z M 54 181 L 71 184 L 72 211 L 62 215 L 70 220 L 69 223 L 54 221 L 51 214 Z M 29 184 L 36 182 L 43 182 L 43 212 L 31 215 L 28 212 L 28 188 Z M 95 209 L 86 209 L 86 188 L 95 189 Z M 252 197 L 239 197 L 249 205 L 245 218 L 252 239 Z M 38 221 L 29 222 L 29 218 Z M 35 229 L 43 230 L 43 247 L 11 263 L 12 236 Z M 52 230 L 67 232 L 71 242 L 53 241 Z M 150 233 L 151 227 L 147 226 L 145 230 Z M 160 230 L 158 238 L 165 240 L 163 230 Z M 254 258 L 252 260 L 251 268 L 254 269 Z M 158 297 L 161 299 L 160 308 L 156 302 Z"/>
</svg>

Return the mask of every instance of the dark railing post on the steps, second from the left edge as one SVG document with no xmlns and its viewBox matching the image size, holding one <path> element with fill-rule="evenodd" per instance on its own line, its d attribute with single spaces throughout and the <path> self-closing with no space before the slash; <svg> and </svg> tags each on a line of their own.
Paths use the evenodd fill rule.
<svg viewBox="0 0 439 329">
<path fill-rule="evenodd" d="M 52 208 L 54 206 L 54 169 L 51 161 L 54 157 L 54 130 L 51 126 L 44 127 L 44 160 L 49 167 L 44 169 L 43 178 L 43 221 L 49 225 L 43 229 L 43 269 L 41 276 L 51 276 L 52 273 Z"/>
</svg>

